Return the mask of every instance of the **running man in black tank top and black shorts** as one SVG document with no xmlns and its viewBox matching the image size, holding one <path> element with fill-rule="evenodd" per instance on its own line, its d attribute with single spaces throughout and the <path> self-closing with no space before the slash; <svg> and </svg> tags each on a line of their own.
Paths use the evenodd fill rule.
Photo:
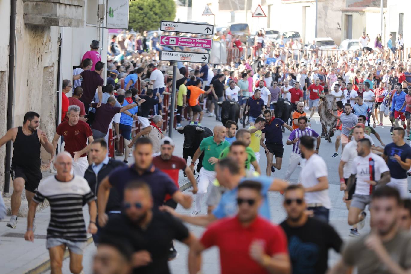
<svg viewBox="0 0 411 274">
<path fill-rule="evenodd" d="M 0 139 L 0 147 L 9 141 L 13 141 L 13 158 L 10 171 L 13 179 L 12 216 L 6 226 L 16 228 L 17 214 L 21 205 L 21 193 L 25 189 L 27 203 L 30 206 L 32 198 L 37 192 L 40 180 L 43 179 L 40 166 L 40 145 L 51 154 L 53 160 L 53 145 L 48 141 L 45 132 L 37 129 L 40 125 L 40 115 L 29 111 L 24 115 L 23 126 L 14 127 L 6 132 Z M 49 163 L 50 164 L 50 163 Z M 36 217 L 33 221 L 33 230 L 36 229 Z"/>
</svg>

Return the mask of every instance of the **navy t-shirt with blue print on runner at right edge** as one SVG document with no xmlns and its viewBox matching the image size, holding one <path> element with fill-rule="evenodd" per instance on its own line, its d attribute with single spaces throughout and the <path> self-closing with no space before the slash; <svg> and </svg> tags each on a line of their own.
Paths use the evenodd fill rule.
<svg viewBox="0 0 411 274">
<path fill-rule="evenodd" d="M 405 159 L 411 159 L 411 147 L 407 144 L 399 147 L 395 143 L 390 143 L 384 148 L 384 154 L 388 156 L 387 165 L 390 169 L 391 177 L 395 179 L 407 178 L 407 170 L 400 166 L 397 160 L 395 160 L 394 155 L 397 154 L 401 157 L 401 161 L 405 162 Z"/>
</svg>

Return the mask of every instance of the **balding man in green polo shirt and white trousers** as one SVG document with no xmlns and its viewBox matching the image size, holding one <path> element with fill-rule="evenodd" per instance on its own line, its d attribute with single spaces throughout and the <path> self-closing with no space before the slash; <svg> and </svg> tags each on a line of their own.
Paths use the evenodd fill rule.
<svg viewBox="0 0 411 274">
<path fill-rule="evenodd" d="M 227 129 L 223 125 L 215 126 L 213 129 L 214 136 L 204 138 L 199 148 L 194 153 L 190 168 L 194 172 L 194 166 L 202 152 L 204 152 L 203 167 L 200 169 L 198 177 L 198 192 L 196 194 L 196 207 L 192 212 L 192 216 L 196 216 L 201 212 L 201 199 L 207 193 L 208 184 L 215 180 L 215 163 L 218 162 L 218 157 L 224 148 L 229 147 L 230 143 L 225 140 Z"/>
</svg>

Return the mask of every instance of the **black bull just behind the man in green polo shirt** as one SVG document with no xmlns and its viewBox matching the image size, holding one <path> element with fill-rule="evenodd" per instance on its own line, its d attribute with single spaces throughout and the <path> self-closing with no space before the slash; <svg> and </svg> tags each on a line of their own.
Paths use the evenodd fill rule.
<svg viewBox="0 0 411 274">
<path fill-rule="evenodd" d="M 184 126 L 176 128 L 178 133 L 184 134 L 184 147 L 182 149 L 182 157 L 187 161 L 188 157 L 193 159 L 194 153 L 199 148 L 201 141 L 209 136 L 212 136 L 212 131 L 207 127 L 201 126 Z M 197 164 L 197 172 L 203 166 L 204 152 L 201 153 L 199 157 L 199 163 Z M 194 171 L 194 174 L 195 171 Z M 184 173 L 184 176 L 185 173 Z"/>
</svg>

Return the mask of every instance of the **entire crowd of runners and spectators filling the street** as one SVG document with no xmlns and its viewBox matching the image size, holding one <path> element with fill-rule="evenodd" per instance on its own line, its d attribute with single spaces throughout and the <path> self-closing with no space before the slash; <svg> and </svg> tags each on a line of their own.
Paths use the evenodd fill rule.
<svg viewBox="0 0 411 274">
<path fill-rule="evenodd" d="M 178 254 L 173 240 L 188 246 L 191 274 L 201 273 L 201 254 L 212 246 L 219 248 L 222 273 L 410 271 L 411 63 L 390 60 L 389 55 L 375 58 L 371 51 L 363 59 L 345 54 L 323 59 L 312 52 L 289 60 L 284 69 L 254 56 L 223 66 L 178 63 L 176 109 L 170 110 L 164 97 L 172 91 L 172 64 L 156 60 L 155 51 L 161 48 L 136 49 L 129 58 L 127 53 L 117 59 L 113 54 L 107 64 L 100 61 L 98 48 L 99 42 L 92 41 L 73 78 L 62 81 L 62 122 L 51 142 L 38 128 L 39 114 L 32 111 L 25 114 L 22 126 L 0 139 L 0 146 L 14 144 L 12 216 L 7 226 L 17 226 L 25 189 L 29 212 L 24 237 L 33 241 L 36 208 L 49 201 L 46 247 L 51 273 L 62 273 L 66 247 L 70 271 L 83 272 L 87 233 L 97 245 L 92 270 L 96 274 L 169 273 L 168 261 Z M 105 66 L 108 73 L 103 76 Z M 72 97 L 66 97 L 71 91 Z M 358 237 L 348 243 L 328 223 L 329 166 L 318 154 L 321 133 L 311 129 L 325 94 L 335 96 L 337 111 L 330 110 L 330 115 L 339 121 L 332 129 L 335 153 L 329 157 L 341 154 L 341 159 L 332 172 L 339 175 L 349 210 L 352 228 L 347 235 Z M 181 148 L 163 132 L 167 113 L 176 112 L 178 127 L 201 130 L 203 113 L 221 121 L 218 102 L 225 100 L 240 106 L 240 123 L 218 122 L 189 163 L 173 155 Z M 289 120 L 275 117 L 275 103 L 282 100 L 291 106 Z M 383 128 L 384 117 L 392 125 L 393 142 L 387 145 L 377 133 L 389 128 Z M 136 135 L 135 124 L 141 127 Z M 116 146 L 123 161 L 108 157 L 110 129 L 123 137 L 124 145 Z M 292 152 L 285 176 L 278 178 L 283 134 Z M 64 152 L 55 154 L 59 142 L 64 142 Z M 41 146 L 50 153 L 49 164 L 56 171 L 45 180 Z M 202 153 L 202 167 L 194 175 Z M 267 166 L 260 165 L 260 153 L 266 155 Z M 134 163 L 128 163 L 129 157 Z M 298 182 L 289 182 L 297 166 Z M 180 191 L 180 170 L 194 196 Z M 270 221 L 270 191 L 283 195 L 287 217 L 280 224 Z M 205 198 L 207 208 L 202 209 Z M 178 204 L 194 210 L 178 213 Z M 367 219 L 371 232 L 360 235 Z M 205 230 L 196 237 L 185 223 Z M 334 266 L 328 266 L 329 249 L 341 253 Z"/>
</svg>

